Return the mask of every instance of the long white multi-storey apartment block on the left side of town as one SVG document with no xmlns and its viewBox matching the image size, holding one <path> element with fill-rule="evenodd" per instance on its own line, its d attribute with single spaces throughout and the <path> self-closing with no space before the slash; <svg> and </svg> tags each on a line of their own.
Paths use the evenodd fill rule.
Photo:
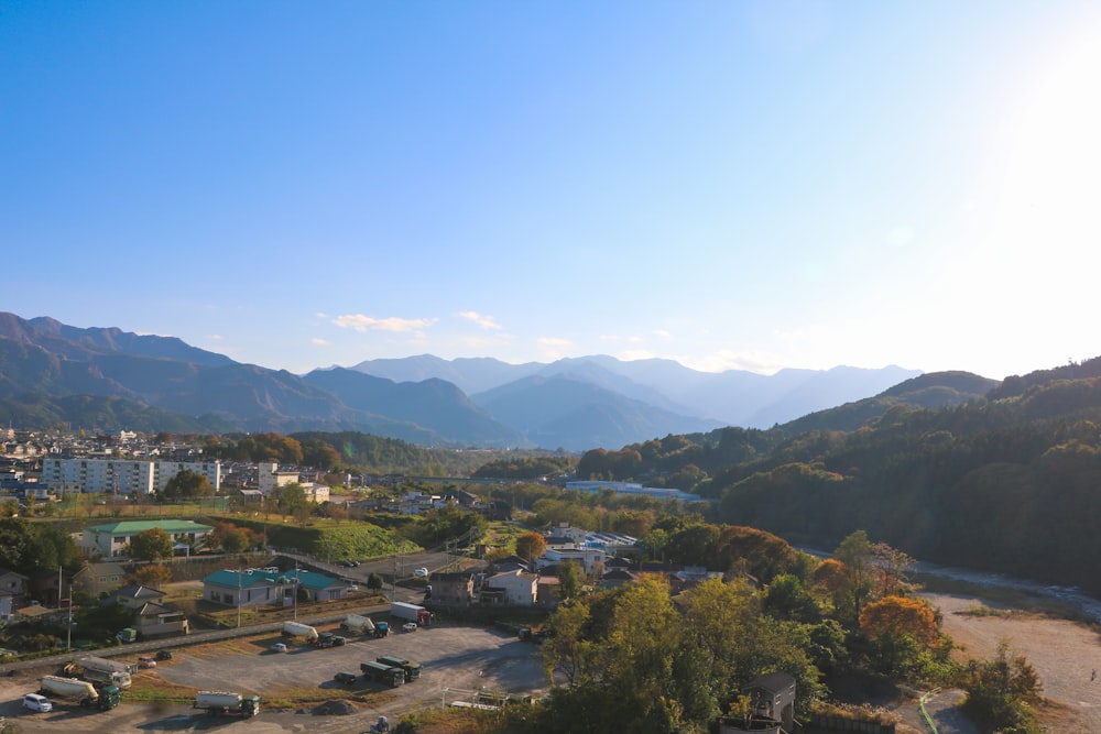
<svg viewBox="0 0 1101 734">
<path fill-rule="evenodd" d="M 51 489 L 79 486 L 81 492 L 145 495 L 163 490 L 168 480 L 184 470 L 206 476 L 215 492 L 221 489 L 220 461 L 45 459 L 42 482 Z"/>
</svg>

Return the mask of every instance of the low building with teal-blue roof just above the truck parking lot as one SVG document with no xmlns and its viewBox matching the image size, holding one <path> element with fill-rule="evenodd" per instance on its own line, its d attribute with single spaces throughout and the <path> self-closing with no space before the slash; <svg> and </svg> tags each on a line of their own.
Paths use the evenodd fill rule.
<svg viewBox="0 0 1101 734">
<path fill-rule="evenodd" d="M 203 599 L 224 606 L 291 606 L 298 589 L 310 602 L 348 596 L 347 583 L 303 569 L 222 569 L 203 579 Z"/>
</svg>

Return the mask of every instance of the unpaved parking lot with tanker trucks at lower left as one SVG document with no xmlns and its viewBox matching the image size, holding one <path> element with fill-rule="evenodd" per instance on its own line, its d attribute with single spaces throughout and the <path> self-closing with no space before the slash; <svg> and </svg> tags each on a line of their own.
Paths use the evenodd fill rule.
<svg viewBox="0 0 1101 734">
<path fill-rule="evenodd" d="M 380 713 L 396 722 L 402 713 L 439 706 L 455 700 L 469 700 L 472 692 L 527 693 L 542 690 L 545 678 L 538 648 L 515 636 L 494 629 L 457 625 L 434 625 L 417 632 L 395 632 L 382 639 L 349 638 L 342 647 L 315 649 L 292 645 L 287 653 L 270 650 L 280 642 L 277 634 L 228 640 L 194 648 L 177 648 L 174 659 L 155 671 L 166 683 L 203 689 L 257 693 L 262 700 L 294 698 L 308 692 L 315 702 L 286 710 L 262 705 L 260 716 L 247 721 L 214 719 L 194 711 L 186 703 L 123 704 L 113 711 L 89 712 L 62 704 L 52 713 L 32 713 L 20 709 L 23 693 L 36 690 L 37 677 L 53 672 L 28 671 L 17 678 L 0 680 L 0 715 L 19 721 L 32 732 L 69 731 L 92 734 L 127 734 L 157 731 L 205 731 L 248 726 L 249 732 L 324 732 L 344 734 L 362 732 Z M 334 680 L 340 671 L 360 672 L 360 662 L 393 655 L 419 662 L 419 680 L 397 688 L 364 681 L 360 675 L 352 684 Z M 318 695 L 320 698 L 318 698 Z M 316 701 L 353 701 L 353 713 L 318 715 Z M 366 701 L 366 702 L 363 702 Z"/>
</svg>

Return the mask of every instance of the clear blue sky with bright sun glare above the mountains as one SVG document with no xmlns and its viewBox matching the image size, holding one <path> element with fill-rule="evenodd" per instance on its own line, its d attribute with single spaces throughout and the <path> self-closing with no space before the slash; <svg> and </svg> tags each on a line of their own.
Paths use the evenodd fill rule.
<svg viewBox="0 0 1101 734">
<path fill-rule="evenodd" d="M 263 366 L 1101 354 L 1101 1 L 0 4 L 0 310 Z"/>
</svg>

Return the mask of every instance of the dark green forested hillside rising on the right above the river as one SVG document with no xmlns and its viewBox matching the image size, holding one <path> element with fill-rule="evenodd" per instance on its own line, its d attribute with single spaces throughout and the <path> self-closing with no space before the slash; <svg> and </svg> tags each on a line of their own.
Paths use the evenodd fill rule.
<svg viewBox="0 0 1101 734">
<path fill-rule="evenodd" d="M 950 407 L 900 402 L 854 429 L 795 421 L 591 451 L 578 473 L 693 490 L 716 501 L 719 522 L 797 544 L 830 548 L 865 529 L 925 560 L 1098 592 L 1099 372 L 1091 360 Z"/>
</svg>

